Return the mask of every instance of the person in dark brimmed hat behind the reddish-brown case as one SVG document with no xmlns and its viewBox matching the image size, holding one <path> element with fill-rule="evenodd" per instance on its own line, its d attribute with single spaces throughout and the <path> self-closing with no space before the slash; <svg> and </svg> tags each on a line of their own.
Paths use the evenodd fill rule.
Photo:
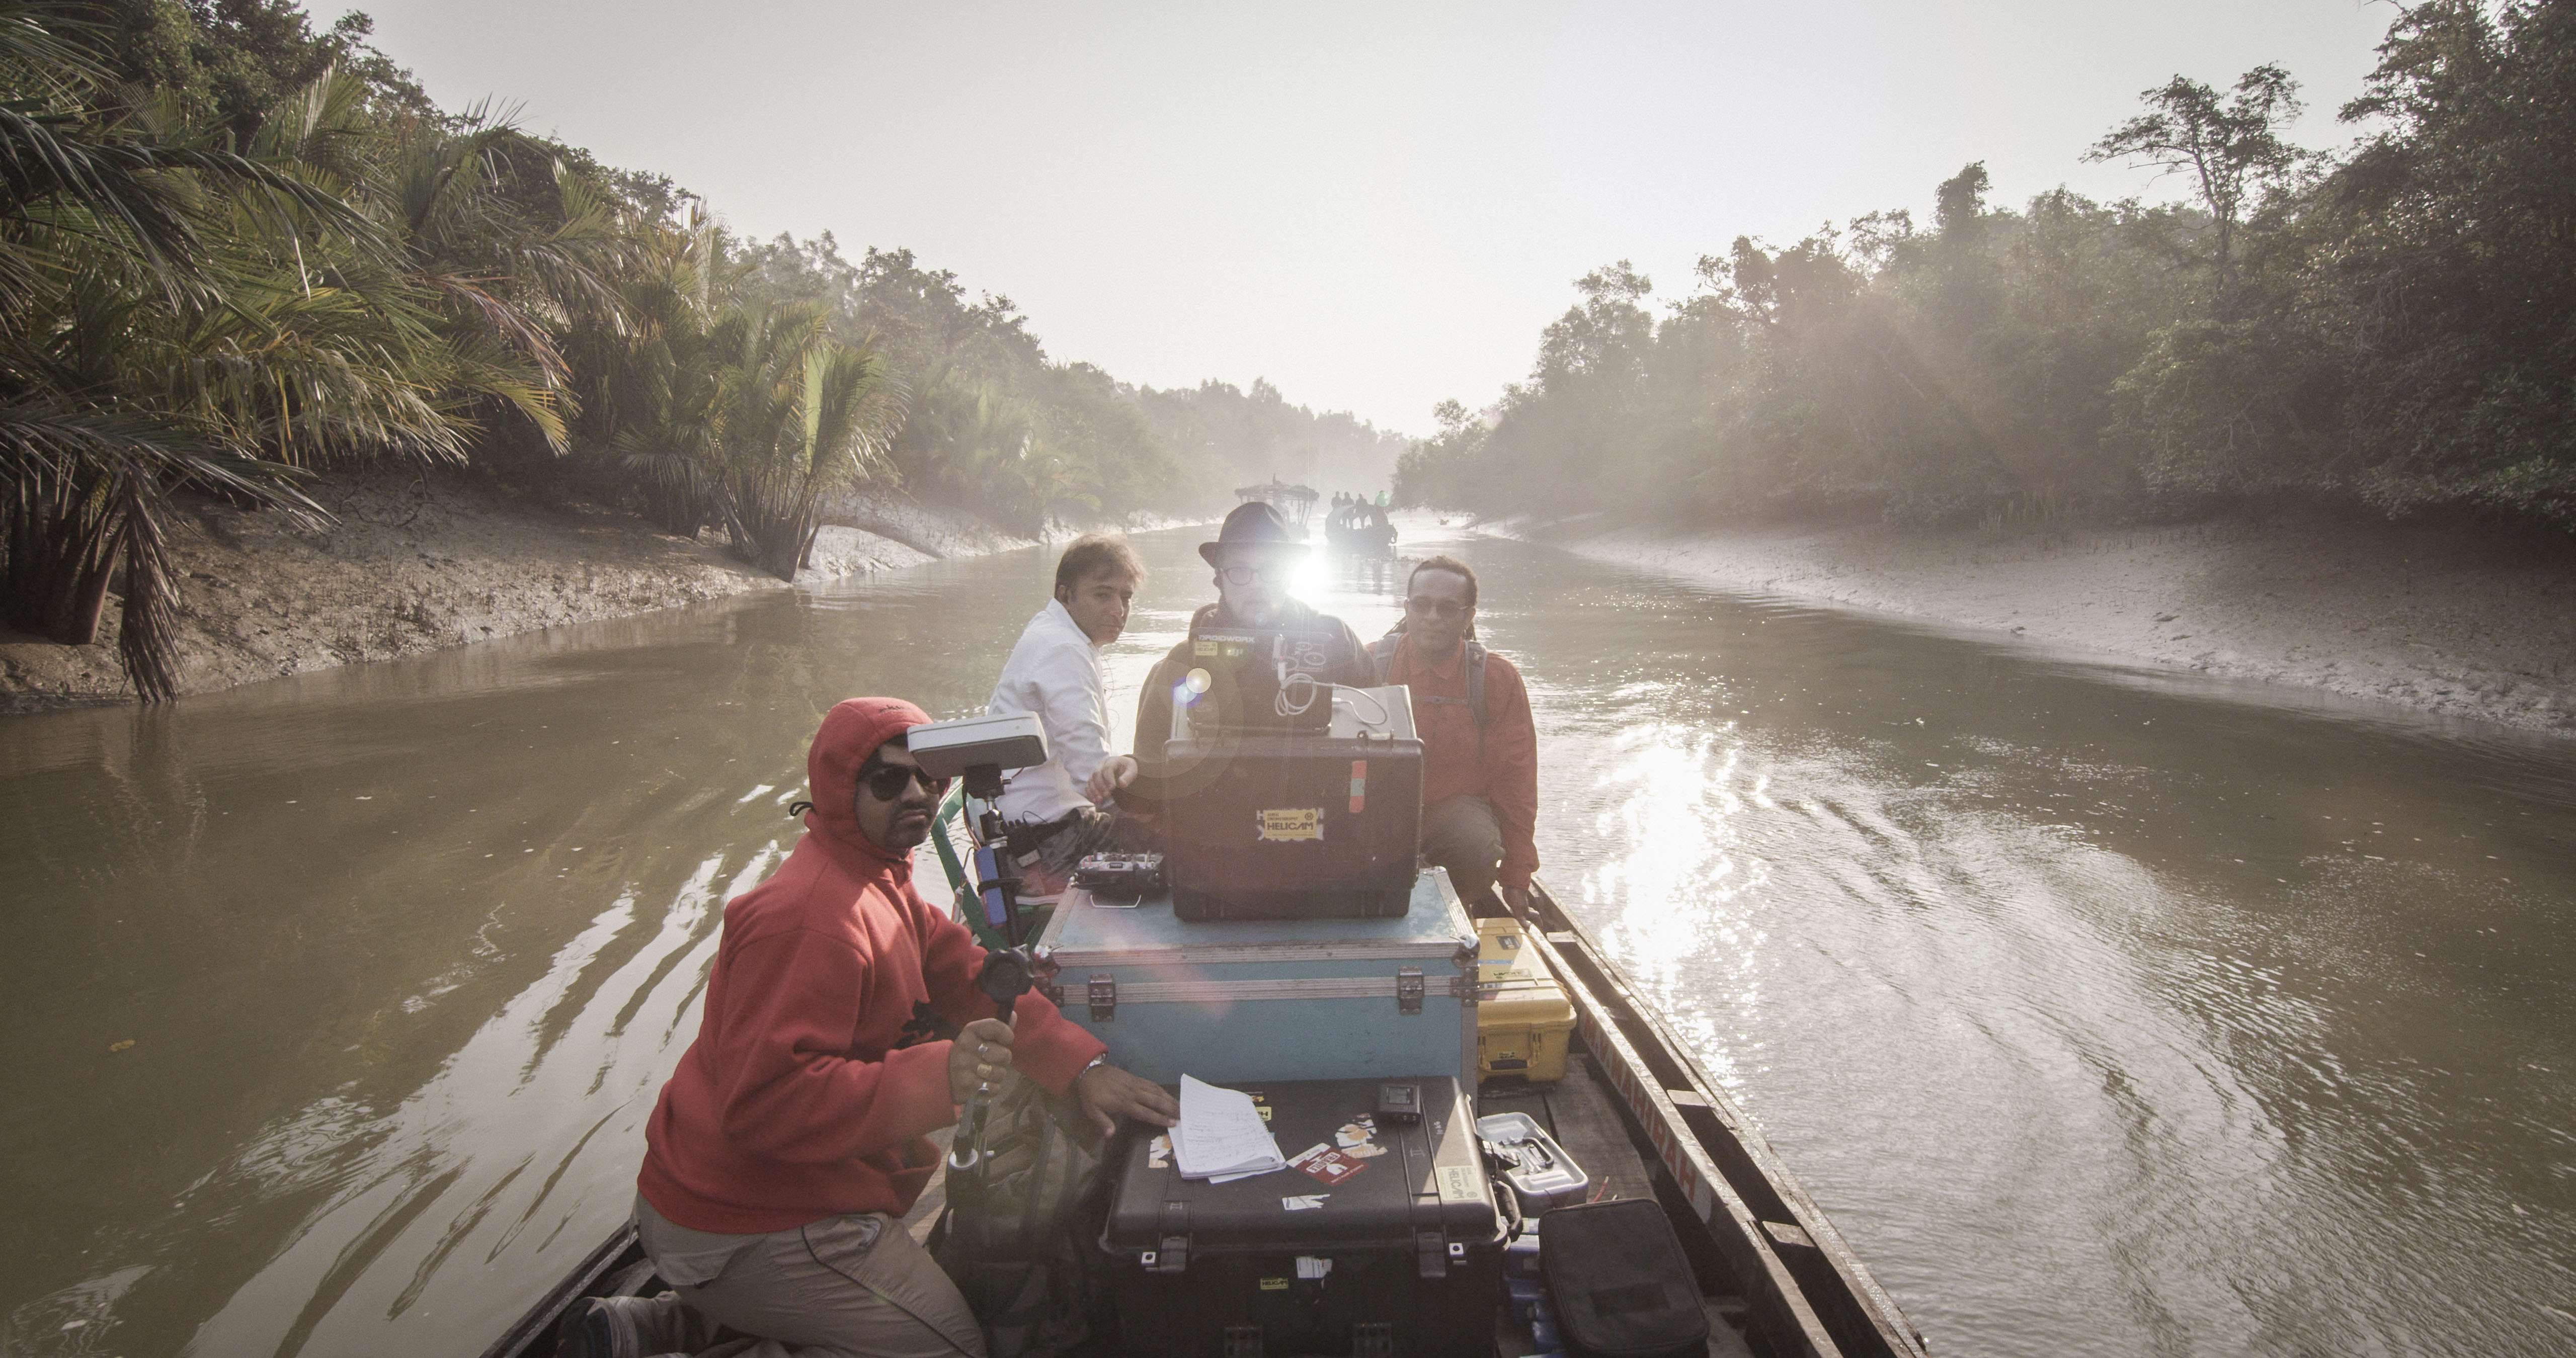
<svg viewBox="0 0 2576 1358">
<path fill-rule="evenodd" d="M 1260 500 L 1236 505 L 1216 531 L 1216 541 L 1198 544 L 1198 554 L 1216 567 L 1216 603 L 1190 618 L 1193 636 L 1211 626 L 1321 631 L 1327 655 L 1314 675 L 1316 683 L 1370 683 L 1360 634 L 1342 618 L 1316 613 L 1288 595 L 1288 582 L 1306 559 L 1306 544 L 1288 531 L 1278 510 Z M 1172 737 L 1172 696 L 1188 691 L 1193 667 L 1190 639 L 1182 639 L 1144 680 L 1144 693 L 1136 698 L 1136 758 L 1146 765 L 1162 763 Z"/>
</svg>

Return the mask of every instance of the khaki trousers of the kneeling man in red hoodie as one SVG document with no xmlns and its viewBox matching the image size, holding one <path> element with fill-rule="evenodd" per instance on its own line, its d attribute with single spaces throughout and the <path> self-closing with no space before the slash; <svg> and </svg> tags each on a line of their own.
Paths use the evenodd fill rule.
<svg viewBox="0 0 2576 1358">
<path fill-rule="evenodd" d="M 636 1198 L 636 1234 L 696 1312 L 760 1335 L 742 1358 L 984 1358 L 984 1330 L 902 1216 L 711 1234 Z M 685 1281 L 683 1281 L 685 1278 Z"/>
</svg>

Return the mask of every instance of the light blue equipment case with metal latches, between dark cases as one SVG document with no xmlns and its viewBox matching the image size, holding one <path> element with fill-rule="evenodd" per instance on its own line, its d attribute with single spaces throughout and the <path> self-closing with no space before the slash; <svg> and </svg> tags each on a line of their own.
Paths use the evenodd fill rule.
<svg viewBox="0 0 2576 1358">
<path fill-rule="evenodd" d="M 1476 1080 L 1476 923 L 1440 868 L 1386 920 L 1190 923 L 1170 894 L 1126 907 L 1072 889 L 1038 943 L 1064 1018 L 1159 1085 Z"/>
</svg>

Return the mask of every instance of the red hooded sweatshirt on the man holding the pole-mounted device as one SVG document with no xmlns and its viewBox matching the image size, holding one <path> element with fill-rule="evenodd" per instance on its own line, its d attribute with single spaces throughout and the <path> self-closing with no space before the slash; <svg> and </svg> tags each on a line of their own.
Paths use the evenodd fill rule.
<svg viewBox="0 0 2576 1358">
<path fill-rule="evenodd" d="M 814 809 L 796 853 L 724 907 L 706 1018 L 644 1124 L 636 1188 L 672 1221 L 768 1234 L 855 1211 L 904 1214 L 930 1183 L 951 1031 L 992 1018 L 984 948 L 912 889 L 912 858 L 858 832 L 858 768 L 927 724 L 899 698 L 850 698 L 806 755 Z M 1100 1041 L 1030 992 L 1012 1067 L 1066 1093 Z"/>
</svg>

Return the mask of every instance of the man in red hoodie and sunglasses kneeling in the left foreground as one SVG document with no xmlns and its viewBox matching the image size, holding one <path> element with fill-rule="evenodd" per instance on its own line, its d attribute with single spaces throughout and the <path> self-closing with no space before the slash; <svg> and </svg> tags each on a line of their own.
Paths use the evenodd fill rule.
<svg viewBox="0 0 2576 1358">
<path fill-rule="evenodd" d="M 902 1224 L 938 1165 L 927 1134 L 1010 1069 L 1103 1134 L 1180 1116 L 1046 997 L 997 1018 L 974 984 L 984 948 L 912 889 L 945 791 L 904 750 L 927 722 L 899 698 L 824 716 L 806 835 L 724 907 L 698 1041 L 644 1124 L 636 1229 L 677 1296 L 590 1304 L 567 1353 L 696 1350 L 716 1322 L 760 1335 L 762 1358 L 981 1358 L 974 1314 Z"/>
</svg>

